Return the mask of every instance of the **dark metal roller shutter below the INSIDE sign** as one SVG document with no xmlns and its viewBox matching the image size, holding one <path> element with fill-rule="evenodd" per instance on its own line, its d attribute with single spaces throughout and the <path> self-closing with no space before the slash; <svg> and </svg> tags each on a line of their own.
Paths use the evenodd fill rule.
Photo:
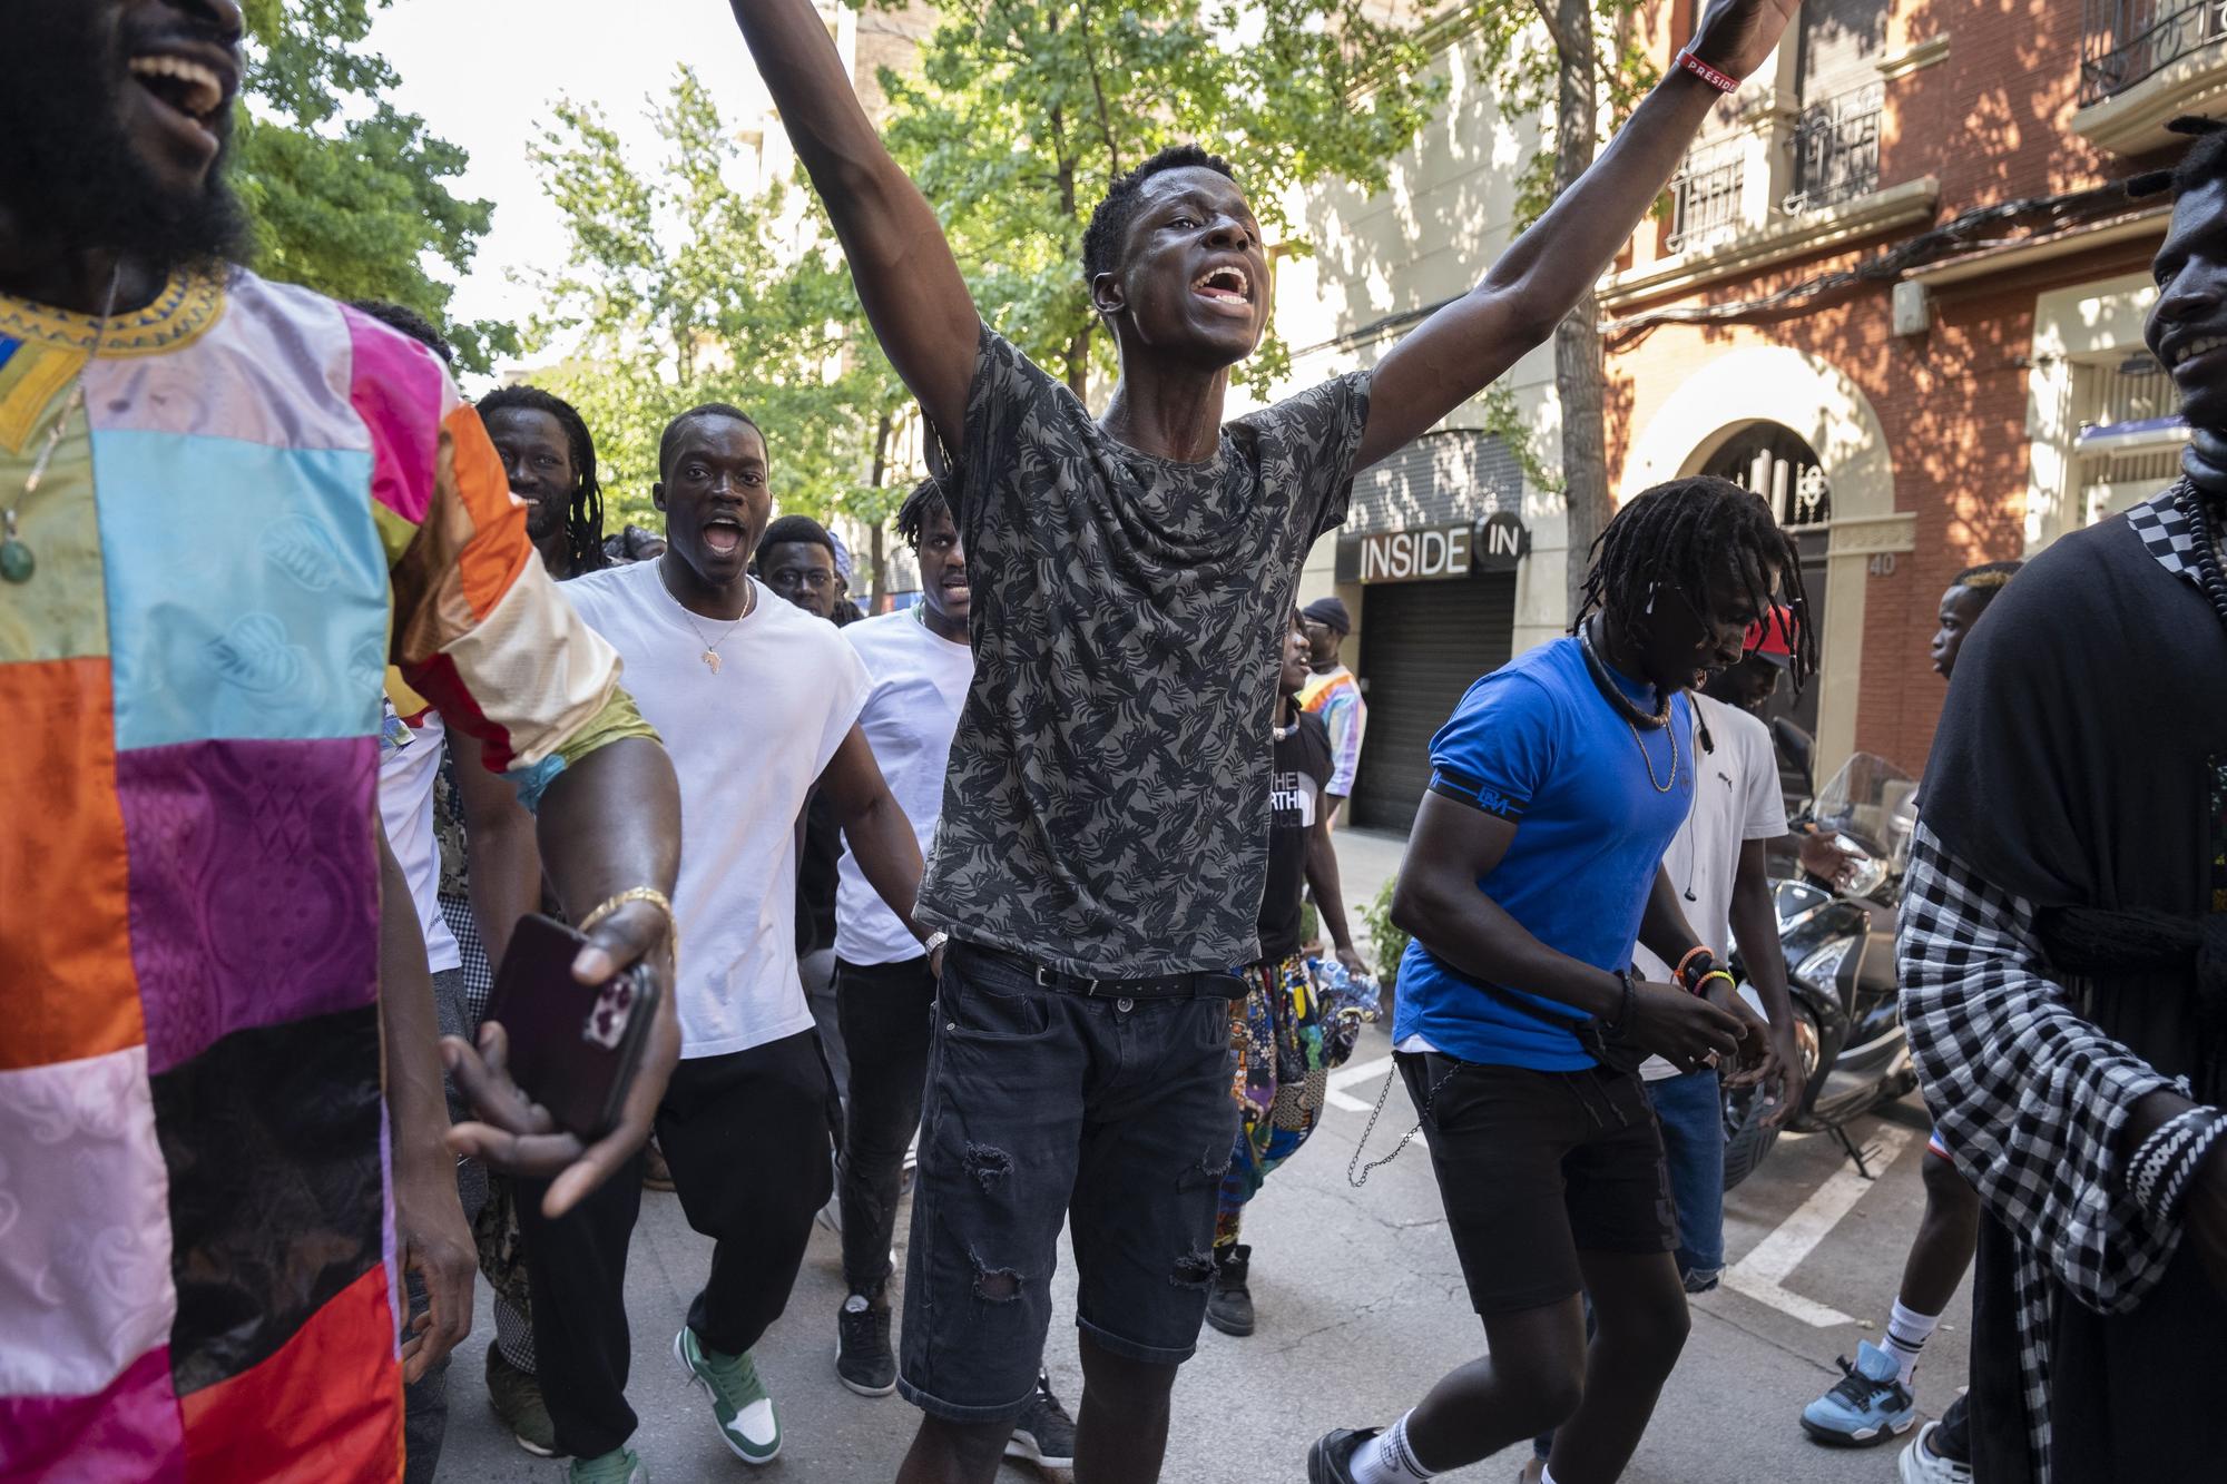
<svg viewBox="0 0 2227 1484">
<path fill-rule="evenodd" d="M 1514 624 L 1514 573 L 1367 590 L 1361 675 L 1367 682 L 1370 729 L 1354 780 L 1354 824 L 1414 824 L 1430 787 L 1430 738 L 1479 675 L 1508 662 Z"/>
</svg>

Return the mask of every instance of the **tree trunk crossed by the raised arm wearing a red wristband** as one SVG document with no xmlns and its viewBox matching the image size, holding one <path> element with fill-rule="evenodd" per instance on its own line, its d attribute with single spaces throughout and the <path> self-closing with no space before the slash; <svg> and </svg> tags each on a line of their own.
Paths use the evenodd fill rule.
<svg viewBox="0 0 2227 1484">
<path fill-rule="evenodd" d="M 1592 165 L 1597 143 L 1599 58 L 1592 40 L 1590 0 L 1554 0 L 1561 89 L 1554 107 L 1554 194 L 1577 185 Z M 1561 479 L 1570 512 L 1568 595 L 1570 617 L 1586 590 L 1592 541 L 1617 512 L 1608 490 L 1608 372 L 1601 361 L 1601 305 L 1592 290 L 1554 328 L 1554 388 L 1561 392 Z"/>
</svg>

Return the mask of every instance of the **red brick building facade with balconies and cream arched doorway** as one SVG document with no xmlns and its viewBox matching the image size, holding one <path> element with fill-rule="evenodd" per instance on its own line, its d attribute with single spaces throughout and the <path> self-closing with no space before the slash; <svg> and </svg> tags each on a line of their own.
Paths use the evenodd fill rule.
<svg viewBox="0 0 2227 1484">
<path fill-rule="evenodd" d="M 1806 0 L 1603 281 L 1621 490 L 1726 472 L 1802 530 L 1826 764 L 1922 769 L 1960 568 L 2171 477 L 2140 348 L 2165 207 L 2111 187 L 2223 91 L 2216 31 L 2154 29 L 2176 4 Z M 1688 22 L 1659 20 L 1668 65 Z"/>
</svg>

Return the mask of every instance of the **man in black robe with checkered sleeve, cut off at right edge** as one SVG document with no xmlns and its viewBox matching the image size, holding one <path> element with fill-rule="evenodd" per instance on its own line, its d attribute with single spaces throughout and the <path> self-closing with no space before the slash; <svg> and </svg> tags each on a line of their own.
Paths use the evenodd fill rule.
<svg viewBox="0 0 2227 1484">
<path fill-rule="evenodd" d="M 2029 562 L 1962 646 L 1904 878 L 1911 1052 L 1982 1205 L 1989 1484 L 2227 1453 L 2227 136 L 2189 131 L 2138 183 L 2176 196 L 2147 341 L 2182 479 Z"/>
</svg>

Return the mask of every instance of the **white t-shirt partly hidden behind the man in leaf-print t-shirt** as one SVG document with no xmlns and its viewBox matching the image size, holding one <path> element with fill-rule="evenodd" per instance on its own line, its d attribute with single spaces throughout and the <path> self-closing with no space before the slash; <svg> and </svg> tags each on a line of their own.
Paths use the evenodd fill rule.
<svg viewBox="0 0 2227 1484">
<path fill-rule="evenodd" d="M 973 651 L 964 640 L 935 635 L 918 613 L 920 608 L 884 613 L 851 624 L 842 637 L 873 675 L 873 693 L 857 717 L 860 731 L 873 744 L 873 760 L 904 818 L 913 822 L 920 858 L 926 860 L 935 816 L 944 807 L 951 738 L 973 684 Z M 835 956 L 844 963 L 920 958 L 920 938 L 866 880 L 848 840 L 835 869 Z"/>
</svg>

